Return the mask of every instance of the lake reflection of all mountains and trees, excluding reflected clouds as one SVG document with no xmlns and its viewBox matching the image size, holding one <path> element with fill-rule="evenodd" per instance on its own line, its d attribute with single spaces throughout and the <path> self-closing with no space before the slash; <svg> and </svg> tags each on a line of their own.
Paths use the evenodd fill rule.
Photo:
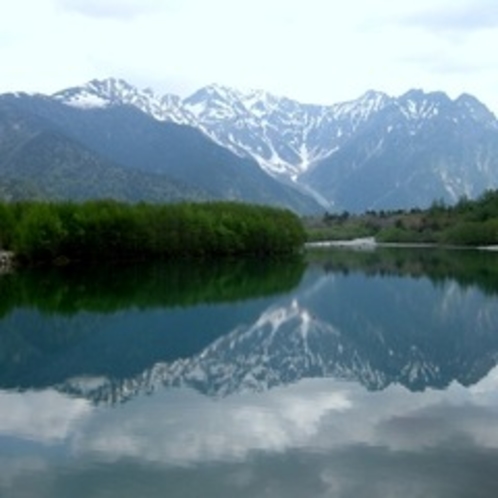
<svg viewBox="0 0 498 498">
<path fill-rule="evenodd" d="M 174 273 L 168 266 L 126 269 L 122 282 L 101 275 L 101 289 L 90 272 L 21 275 L 20 283 L 11 283 L 21 289 L 20 303 L 11 304 L 0 324 L 0 385 L 56 386 L 112 404 L 167 386 L 220 397 L 313 377 L 355 380 L 369 390 L 479 381 L 498 356 L 498 307 L 490 280 L 485 292 L 449 277 L 435 283 L 429 270 L 448 267 L 434 264 L 436 252 L 420 252 L 418 262 L 405 254 L 401 264 L 402 251 L 394 263 L 389 255 L 334 252 L 311 264 L 299 285 L 299 262 L 273 265 L 267 273 L 259 267 L 259 298 L 251 265 L 226 273 L 201 267 L 197 275 L 204 271 L 209 278 L 194 280 L 190 288 L 182 283 L 181 291 L 179 265 Z M 489 255 L 482 256 L 487 265 Z M 345 271 L 345 261 L 353 270 Z M 431 263 L 431 278 L 422 274 L 424 261 Z M 476 282 L 488 275 L 473 265 Z M 193 268 L 185 267 L 184 274 L 189 272 Z M 42 282 L 42 292 L 33 290 L 31 279 Z M 224 283 L 231 291 L 225 288 L 216 302 Z M 267 296 L 269 290 L 276 294 Z M 210 296 L 210 302 L 200 296 Z"/>
</svg>

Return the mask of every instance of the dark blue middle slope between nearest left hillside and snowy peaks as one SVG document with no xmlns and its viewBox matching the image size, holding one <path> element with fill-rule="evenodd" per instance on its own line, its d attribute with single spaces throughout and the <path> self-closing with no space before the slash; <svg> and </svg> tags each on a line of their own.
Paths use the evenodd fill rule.
<svg viewBox="0 0 498 498">
<path fill-rule="evenodd" d="M 2 104 L 41 129 L 81 144 L 104 162 L 127 167 L 135 178 L 138 172 L 162 175 L 213 199 L 277 204 L 300 212 L 317 209 L 311 199 L 281 185 L 254 161 L 234 155 L 192 127 L 153 119 L 136 106 L 99 103 L 81 109 L 42 96 L 4 96 Z"/>
</svg>

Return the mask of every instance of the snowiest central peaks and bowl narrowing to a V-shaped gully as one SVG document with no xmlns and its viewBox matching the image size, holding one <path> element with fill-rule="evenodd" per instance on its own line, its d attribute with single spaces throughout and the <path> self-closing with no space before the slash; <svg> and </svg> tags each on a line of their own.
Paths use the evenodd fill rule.
<svg viewBox="0 0 498 498">
<path fill-rule="evenodd" d="M 352 102 L 320 106 L 210 86 L 187 98 L 185 107 L 218 143 L 250 155 L 270 174 L 296 181 L 388 102 L 385 94 L 367 92 Z"/>
</svg>

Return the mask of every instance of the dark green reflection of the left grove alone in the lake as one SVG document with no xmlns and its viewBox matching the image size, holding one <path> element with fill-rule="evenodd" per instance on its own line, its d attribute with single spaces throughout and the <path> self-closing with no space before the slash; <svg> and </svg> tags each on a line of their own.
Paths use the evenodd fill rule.
<svg viewBox="0 0 498 498">
<path fill-rule="evenodd" d="M 70 316 L 236 302 L 291 290 L 303 271 L 296 258 L 35 268 L 0 277 L 0 317 L 19 308 Z"/>
</svg>

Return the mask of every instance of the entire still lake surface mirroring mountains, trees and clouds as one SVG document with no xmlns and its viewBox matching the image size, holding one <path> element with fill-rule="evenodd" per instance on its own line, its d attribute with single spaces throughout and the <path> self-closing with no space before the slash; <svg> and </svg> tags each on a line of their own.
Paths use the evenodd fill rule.
<svg viewBox="0 0 498 498">
<path fill-rule="evenodd" d="M 498 496 L 498 254 L 0 276 L 0 496 Z"/>
</svg>

